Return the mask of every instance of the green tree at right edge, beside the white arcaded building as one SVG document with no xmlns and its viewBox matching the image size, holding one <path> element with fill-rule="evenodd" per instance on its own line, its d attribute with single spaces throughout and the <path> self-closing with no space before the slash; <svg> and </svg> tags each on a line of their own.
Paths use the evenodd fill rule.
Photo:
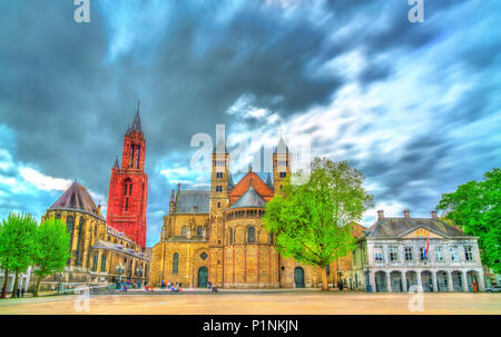
<svg viewBox="0 0 501 337">
<path fill-rule="evenodd" d="M 436 207 L 465 234 L 479 237 L 482 264 L 501 272 L 501 170 L 483 175 L 483 181 L 469 181 L 443 194 Z"/>
</svg>

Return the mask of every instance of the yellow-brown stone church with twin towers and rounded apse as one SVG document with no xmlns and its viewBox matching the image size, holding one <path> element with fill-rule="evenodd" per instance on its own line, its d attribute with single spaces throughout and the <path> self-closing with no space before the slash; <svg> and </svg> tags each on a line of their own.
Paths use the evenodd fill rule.
<svg viewBox="0 0 501 337">
<path fill-rule="evenodd" d="M 210 189 L 173 190 L 160 241 L 153 248 L 150 283 L 181 287 L 320 287 L 321 269 L 282 257 L 262 222 L 266 202 L 291 175 L 292 155 L 281 138 L 273 153 L 273 179 L 249 171 L 236 184 L 222 140 L 213 151 Z M 362 228 L 355 225 L 361 234 Z M 345 268 L 344 275 L 338 266 Z M 351 256 L 328 267 L 328 283 L 346 278 Z M 346 284 L 346 279 L 344 279 Z"/>
</svg>

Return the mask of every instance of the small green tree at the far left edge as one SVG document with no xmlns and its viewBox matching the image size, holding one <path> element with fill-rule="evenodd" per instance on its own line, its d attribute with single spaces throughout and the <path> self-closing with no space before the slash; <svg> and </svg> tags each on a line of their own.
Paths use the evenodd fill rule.
<svg viewBox="0 0 501 337">
<path fill-rule="evenodd" d="M 37 226 L 37 220 L 29 214 L 11 212 L 7 220 L 2 220 L 0 231 L 0 264 L 4 270 L 2 298 L 7 297 L 9 271 L 16 272 L 12 298 L 17 297 L 19 274 L 32 264 Z"/>
</svg>

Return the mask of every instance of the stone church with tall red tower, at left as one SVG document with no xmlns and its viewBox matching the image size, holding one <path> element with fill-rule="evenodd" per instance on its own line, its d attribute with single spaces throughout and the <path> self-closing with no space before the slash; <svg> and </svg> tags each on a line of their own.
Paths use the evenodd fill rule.
<svg viewBox="0 0 501 337">
<path fill-rule="evenodd" d="M 50 217 L 62 220 L 70 234 L 70 252 L 65 272 L 46 277 L 42 290 L 77 285 L 147 284 L 150 252 L 146 245 L 146 198 L 148 177 L 145 174 L 145 138 L 140 128 L 139 108 L 132 127 L 124 139 L 122 169 L 118 158 L 111 170 L 108 198 L 108 221 L 87 189 L 75 181 L 47 209 L 41 221 Z M 31 286 L 37 277 L 30 280 Z"/>
</svg>

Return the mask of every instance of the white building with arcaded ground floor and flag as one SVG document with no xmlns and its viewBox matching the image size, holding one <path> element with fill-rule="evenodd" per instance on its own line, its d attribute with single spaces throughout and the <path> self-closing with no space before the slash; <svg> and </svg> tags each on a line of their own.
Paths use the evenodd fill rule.
<svg viewBox="0 0 501 337">
<path fill-rule="evenodd" d="M 429 251 L 424 258 L 430 232 Z M 357 240 L 353 254 L 355 287 L 372 291 L 409 291 L 418 285 L 424 291 L 473 291 L 473 283 L 484 290 L 483 268 L 478 238 L 431 218 L 384 217 L 377 211 L 376 222 Z"/>
</svg>

